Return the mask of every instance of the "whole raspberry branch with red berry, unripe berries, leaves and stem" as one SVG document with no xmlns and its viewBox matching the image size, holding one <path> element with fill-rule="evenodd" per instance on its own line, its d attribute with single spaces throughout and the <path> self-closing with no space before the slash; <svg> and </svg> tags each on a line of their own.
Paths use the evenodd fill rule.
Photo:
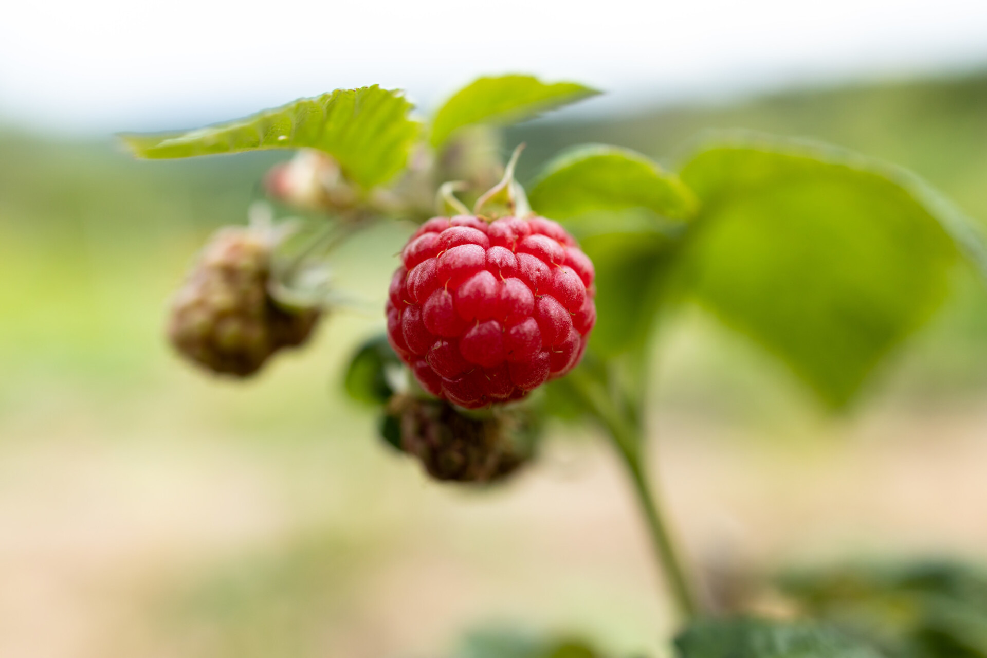
<svg viewBox="0 0 987 658">
<path fill-rule="evenodd" d="M 533 460 L 543 416 L 599 424 L 690 622 L 680 658 L 875 658 L 815 623 L 702 619 L 647 469 L 645 357 L 659 316 L 688 299 L 845 408 L 939 308 L 958 256 L 987 272 L 987 239 L 913 175 L 750 133 L 703 140 L 676 172 L 623 148 L 574 147 L 530 196 L 513 180 L 515 151 L 496 183 L 490 126 L 594 94 L 481 78 L 419 120 L 402 91 L 373 86 L 190 132 L 124 135 L 152 159 L 302 149 L 268 173 L 266 191 L 335 222 L 298 236 L 294 256 L 273 253 L 292 222 L 217 233 L 176 295 L 169 336 L 206 370 L 252 376 L 339 308 L 322 262 L 331 252 L 376 219 L 415 221 L 388 290 L 387 336 L 364 344 L 345 376 L 350 397 L 383 413 L 392 448 L 433 479 L 488 484 Z M 428 219 L 436 201 L 440 216 Z"/>
</svg>

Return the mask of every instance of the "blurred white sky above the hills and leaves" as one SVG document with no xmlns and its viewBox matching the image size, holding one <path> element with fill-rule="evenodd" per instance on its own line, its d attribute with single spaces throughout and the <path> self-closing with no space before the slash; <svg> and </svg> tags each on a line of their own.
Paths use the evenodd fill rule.
<svg viewBox="0 0 987 658">
<path fill-rule="evenodd" d="M 425 106 L 482 73 L 608 92 L 581 111 L 987 65 L 987 0 L 7 0 L 0 121 L 164 129 L 338 87 Z"/>
</svg>

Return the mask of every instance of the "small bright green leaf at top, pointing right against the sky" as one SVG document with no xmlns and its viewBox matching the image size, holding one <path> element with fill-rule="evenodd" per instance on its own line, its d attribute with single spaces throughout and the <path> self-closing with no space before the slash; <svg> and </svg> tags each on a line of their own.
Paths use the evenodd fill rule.
<svg viewBox="0 0 987 658">
<path fill-rule="evenodd" d="M 544 83 L 530 75 L 483 77 L 456 92 L 432 119 L 431 145 L 439 147 L 459 128 L 477 123 L 503 125 L 596 96 L 574 82 Z"/>
</svg>

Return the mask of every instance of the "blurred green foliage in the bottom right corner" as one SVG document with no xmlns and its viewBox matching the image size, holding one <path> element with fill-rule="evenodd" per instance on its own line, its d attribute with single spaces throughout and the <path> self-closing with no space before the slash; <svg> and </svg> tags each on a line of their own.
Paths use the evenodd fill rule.
<svg viewBox="0 0 987 658">
<path fill-rule="evenodd" d="M 951 561 L 790 573 L 783 589 L 813 615 L 900 658 L 987 657 L 987 574 Z"/>
</svg>

